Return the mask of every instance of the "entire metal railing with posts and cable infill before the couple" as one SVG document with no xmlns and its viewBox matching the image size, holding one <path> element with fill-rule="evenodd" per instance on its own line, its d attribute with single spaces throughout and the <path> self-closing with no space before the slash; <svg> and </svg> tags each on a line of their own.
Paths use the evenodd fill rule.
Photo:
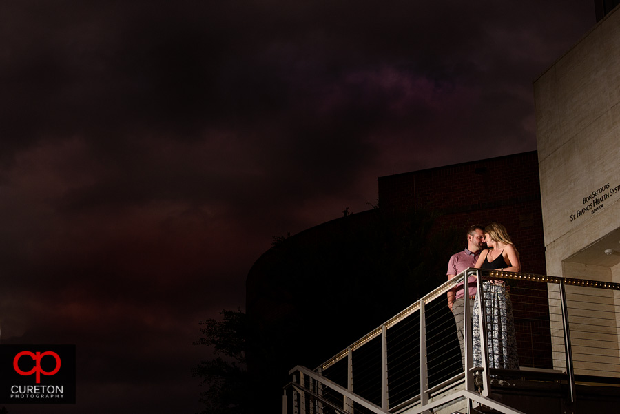
<svg viewBox="0 0 620 414">
<path fill-rule="evenodd" d="M 462 360 L 446 293 L 467 284 L 465 276 L 471 275 L 477 276 L 474 317 L 479 331 L 473 337 L 472 315 L 464 306 Z M 497 314 L 486 309 L 485 296 L 492 300 L 493 286 L 502 287 L 502 297 L 505 287 L 506 300 L 499 303 L 512 305 L 513 320 L 504 320 L 503 328 Z M 469 301 L 465 296 L 464 302 Z M 510 313 L 506 307 L 497 312 Z M 498 351 L 493 341 L 499 336 L 501 342 L 504 333 L 499 331 L 506 325 L 509 331 L 514 328 L 518 369 L 502 366 L 502 346 Z M 474 347 L 479 350 L 477 367 Z M 620 377 L 620 284 L 468 269 L 316 369 L 296 366 L 290 373 L 285 413 L 292 405 L 296 414 L 415 414 L 455 401 L 464 402 L 468 412 L 484 404 L 502 413 L 520 413 L 489 397 L 498 375 L 556 375 L 569 385 L 574 402 L 576 377 Z M 292 400 L 287 400 L 289 395 Z"/>
</svg>

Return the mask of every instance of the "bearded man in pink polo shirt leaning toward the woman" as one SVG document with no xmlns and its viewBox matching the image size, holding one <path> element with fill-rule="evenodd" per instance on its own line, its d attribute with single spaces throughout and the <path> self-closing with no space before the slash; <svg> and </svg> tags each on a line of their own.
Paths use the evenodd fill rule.
<svg viewBox="0 0 620 414">
<path fill-rule="evenodd" d="M 480 251 L 482 251 L 484 242 L 484 227 L 481 225 L 473 225 L 467 231 L 467 248 L 464 251 L 454 254 L 448 262 L 448 280 L 457 276 L 468 267 L 475 267 Z M 473 299 L 476 296 L 476 278 L 469 276 L 469 315 L 473 313 Z M 464 289 L 463 282 L 457 284 L 453 289 L 448 291 L 448 307 L 454 315 L 457 325 L 457 335 L 459 344 L 461 345 L 461 360 L 465 366 L 465 324 L 464 324 Z M 471 329 L 471 326 L 470 326 Z"/>
</svg>

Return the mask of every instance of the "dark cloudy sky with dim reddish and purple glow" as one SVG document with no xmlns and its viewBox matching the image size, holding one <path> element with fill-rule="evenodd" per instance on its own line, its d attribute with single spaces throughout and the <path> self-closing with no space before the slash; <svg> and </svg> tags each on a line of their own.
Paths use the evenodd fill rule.
<svg viewBox="0 0 620 414">
<path fill-rule="evenodd" d="M 594 24 L 592 0 L 1 1 L 1 338 L 79 355 L 79 404 L 10 413 L 194 413 L 198 321 L 243 307 L 272 236 L 535 149 L 532 82 Z"/>
</svg>

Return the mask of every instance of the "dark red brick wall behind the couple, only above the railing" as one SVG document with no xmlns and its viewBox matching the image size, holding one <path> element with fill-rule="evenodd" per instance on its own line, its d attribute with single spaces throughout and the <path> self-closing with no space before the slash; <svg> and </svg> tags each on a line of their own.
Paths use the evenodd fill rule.
<svg viewBox="0 0 620 414">
<path fill-rule="evenodd" d="M 379 207 L 439 211 L 438 227 L 499 222 L 521 255 L 522 269 L 544 274 L 537 152 L 424 169 L 379 179 Z M 465 237 L 464 247 L 466 245 Z"/>
</svg>

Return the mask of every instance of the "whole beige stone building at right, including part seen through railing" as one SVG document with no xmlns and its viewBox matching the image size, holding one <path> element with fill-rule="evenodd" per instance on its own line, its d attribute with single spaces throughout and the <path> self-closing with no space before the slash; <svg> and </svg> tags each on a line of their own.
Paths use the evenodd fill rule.
<svg viewBox="0 0 620 414">
<path fill-rule="evenodd" d="M 534 90 L 547 274 L 620 283 L 620 8 Z M 618 291 L 568 286 L 566 298 L 575 373 L 620 377 Z"/>
</svg>

